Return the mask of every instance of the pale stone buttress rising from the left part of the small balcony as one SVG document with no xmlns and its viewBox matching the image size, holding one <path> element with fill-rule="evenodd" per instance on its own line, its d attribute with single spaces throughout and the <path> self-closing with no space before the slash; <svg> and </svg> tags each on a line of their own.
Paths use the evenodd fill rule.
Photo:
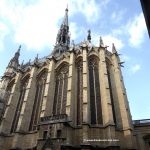
<svg viewBox="0 0 150 150">
<path fill-rule="evenodd" d="M 55 94 L 55 60 L 52 58 L 49 61 L 48 65 L 48 74 L 45 85 L 43 103 L 42 103 L 42 111 L 43 116 L 52 116 L 53 113 L 53 103 L 54 103 L 54 94 Z"/>
</svg>

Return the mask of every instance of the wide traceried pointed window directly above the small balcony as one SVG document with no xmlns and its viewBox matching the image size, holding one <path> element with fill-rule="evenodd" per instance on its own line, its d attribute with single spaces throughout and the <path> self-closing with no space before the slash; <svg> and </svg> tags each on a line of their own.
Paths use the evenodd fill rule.
<svg viewBox="0 0 150 150">
<path fill-rule="evenodd" d="M 53 115 L 66 114 L 68 71 L 69 71 L 69 66 L 67 64 L 64 64 L 56 72 Z"/>
</svg>

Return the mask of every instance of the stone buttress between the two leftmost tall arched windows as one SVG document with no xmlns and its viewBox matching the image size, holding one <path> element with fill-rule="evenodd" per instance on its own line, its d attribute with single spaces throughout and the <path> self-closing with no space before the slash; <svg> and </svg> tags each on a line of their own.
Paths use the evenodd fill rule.
<svg viewBox="0 0 150 150">
<path fill-rule="evenodd" d="M 6 105 L 6 110 L 5 114 L 3 116 L 3 120 L 0 126 L 0 132 L 9 134 L 11 131 L 11 126 L 13 122 L 13 118 L 15 115 L 17 103 L 19 100 L 19 95 L 20 95 L 20 78 L 21 78 L 21 73 L 17 73 L 15 77 L 15 83 L 13 85 L 11 95 L 9 97 L 8 103 Z"/>
</svg>

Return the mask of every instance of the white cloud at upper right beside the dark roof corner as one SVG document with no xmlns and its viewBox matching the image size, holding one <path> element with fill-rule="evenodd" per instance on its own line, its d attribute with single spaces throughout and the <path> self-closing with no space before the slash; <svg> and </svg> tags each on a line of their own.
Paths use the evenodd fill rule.
<svg viewBox="0 0 150 150">
<path fill-rule="evenodd" d="M 146 32 L 146 25 L 143 13 L 140 13 L 127 24 L 129 33 L 129 42 L 133 47 L 139 47 L 143 41 Z"/>
</svg>

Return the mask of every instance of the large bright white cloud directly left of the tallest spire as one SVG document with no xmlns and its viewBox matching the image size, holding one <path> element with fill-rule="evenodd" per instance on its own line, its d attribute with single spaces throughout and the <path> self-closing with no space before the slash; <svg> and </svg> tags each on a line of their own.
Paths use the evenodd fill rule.
<svg viewBox="0 0 150 150">
<path fill-rule="evenodd" d="M 48 0 L 41 0 L 35 5 L 25 7 L 22 14 L 23 20 L 16 29 L 15 40 L 18 43 L 24 43 L 29 49 L 36 50 L 54 45 L 58 21 L 64 17 L 65 7 L 62 1 L 51 3 Z"/>
</svg>

